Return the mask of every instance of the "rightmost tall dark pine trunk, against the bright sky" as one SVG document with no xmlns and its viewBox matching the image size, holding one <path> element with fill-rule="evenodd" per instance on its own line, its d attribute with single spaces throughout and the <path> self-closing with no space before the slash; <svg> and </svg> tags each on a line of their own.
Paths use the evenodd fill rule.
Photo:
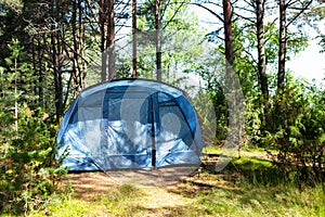
<svg viewBox="0 0 325 217">
<path fill-rule="evenodd" d="M 277 71 L 277 88 L 281 90 L 285 78 L 286 64 L 286 3 L 285 0 L 280 0 L 280 37 L 278 37 L 278 71 Z"/>
</svg>

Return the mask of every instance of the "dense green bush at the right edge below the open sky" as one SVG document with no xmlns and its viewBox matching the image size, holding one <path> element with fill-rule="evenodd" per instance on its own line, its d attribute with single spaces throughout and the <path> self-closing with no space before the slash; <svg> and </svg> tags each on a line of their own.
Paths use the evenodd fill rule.
<svg viewBox="0 0 325 217">
<path fill-rule="evenodd" d="M 288 82 L 272 98 L 264 142 L 278 150 L 275 164 L 298 183 L 324 179 L 325 104 L 324 92 Z"/>
</svg>

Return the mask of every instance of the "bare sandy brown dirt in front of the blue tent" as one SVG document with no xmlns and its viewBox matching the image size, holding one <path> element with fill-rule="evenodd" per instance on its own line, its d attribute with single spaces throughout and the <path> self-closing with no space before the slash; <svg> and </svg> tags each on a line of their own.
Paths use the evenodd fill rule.
<svg viewBox="0 0 325 217">
<path fill-rule="evenodd" d="M 257 156 L 256 153 L 244 154 L 245 156 L 264 158 L 264 156 Z M 195 202 L 195 199 L 185 194 L 190 195 L 196 191 L 209 191 L 213 187 L 235 188 L 232 181 L 233 178 L 236 178 L 234 177 L 235 175 L 203 174 L 200 177 L 195 175 L 188 178 L 191 171 L 193 171 L 193 168 L 186 169 L 185 167 L 157 170 L 107 171 L 106 174 L 102 171 L 80 173 L 68 174 L 66 182 L 69 182 L 73 187 L 74 197 L 90 203 L 101 202 L 103 196 L 109 200 L 109 197 L 116 196 L 112 192 L 118 193 L 123 184 L 127 184 L 130 191 L 138 191 L 139 194 L 131 193 L 129 197 L 122 199 L 125 201 L 118 202 L 117 206 L 140 209 L 140 213 L 134 214 L 134 216 L 173 216 L 176 213 L 182 216 L 182 212 L 185 214 L 186 209 Z M 179 181 L 184 177 L 187 177 L 186 180 L 190 180 L 190 184 L 188 182 Z M 102 209 L 104 208 L 100 206 L 96 210 L 99 213 L 95 214 L 102 215 Z M 105 209 L 107 210 L 107 207 Z M 132 213 L 133 210 L 130 212 Z"/>
</svg>

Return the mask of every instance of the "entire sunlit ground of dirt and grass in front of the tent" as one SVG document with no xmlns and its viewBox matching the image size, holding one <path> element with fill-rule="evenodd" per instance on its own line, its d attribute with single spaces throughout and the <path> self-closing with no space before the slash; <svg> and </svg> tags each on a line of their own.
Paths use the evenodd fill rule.
<svg viewBox="0 0 325 217">
<path fill-rule="evenodd" d="M 68 174 L 68 196 L 31 216 L 325 216 L 324 187 L 298 189 L 278 178 L 265 153 L 240 155 L 222 171 L 209 158 L 192 176 L 182 169 Z"/>
</svg>

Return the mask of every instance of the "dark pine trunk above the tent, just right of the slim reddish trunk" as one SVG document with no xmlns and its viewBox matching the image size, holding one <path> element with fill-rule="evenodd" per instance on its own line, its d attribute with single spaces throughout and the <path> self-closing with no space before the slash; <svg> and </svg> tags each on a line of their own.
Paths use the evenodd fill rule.
<svg viewBox="0 0 325 217">
<path fill-rule="evenodd" d="M 161 81 L 161 38 L 160 38 L 160 0 L 155 0 L 155 29 L 156 29 L 156 71 L 157 80 Z"/>
</svg>

